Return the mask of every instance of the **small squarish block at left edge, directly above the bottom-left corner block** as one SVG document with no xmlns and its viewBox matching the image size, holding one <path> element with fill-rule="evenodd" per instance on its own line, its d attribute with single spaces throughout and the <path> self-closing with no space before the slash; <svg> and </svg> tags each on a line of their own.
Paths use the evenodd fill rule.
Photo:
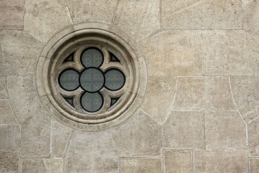
<svg viewBox="0 0 259 173">
<path fill-rule="evenodd" d="M 20 125 L 0 125 L 0 136 L 1 150 L 20 149 Z"/>
</svg>

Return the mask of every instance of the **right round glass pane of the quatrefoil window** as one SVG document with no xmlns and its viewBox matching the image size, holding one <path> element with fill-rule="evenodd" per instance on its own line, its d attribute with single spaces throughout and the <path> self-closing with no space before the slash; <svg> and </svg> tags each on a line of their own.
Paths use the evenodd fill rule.
<svg viewBox="0 0 259 173">
<path fill-rule="evenodd" d="M 111 90 L 117 90 L 123 87 L 125 83 L 124 74 L 117 69 L 109 70 L 105 73 L 105 87 Z"/>
</svg>

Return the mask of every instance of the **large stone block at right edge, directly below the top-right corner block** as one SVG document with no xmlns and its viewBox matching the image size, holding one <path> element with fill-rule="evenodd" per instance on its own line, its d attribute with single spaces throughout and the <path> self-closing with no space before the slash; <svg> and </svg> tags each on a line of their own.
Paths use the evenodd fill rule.
<svg viewBox="0 0 259 173">
<path fill-rule="evenodd" d="M 203 31 L 205 75 L 257 76 L 259 44 L 243 30 Z"/>
</svg>

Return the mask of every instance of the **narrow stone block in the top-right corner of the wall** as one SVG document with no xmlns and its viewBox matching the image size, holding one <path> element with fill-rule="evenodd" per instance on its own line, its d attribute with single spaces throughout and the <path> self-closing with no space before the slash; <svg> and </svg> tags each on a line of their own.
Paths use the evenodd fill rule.
<svg viewBox="0 0 259 173">
<path fill-rule="evenodd" d="M 243 28 L 259 39 L 259 0 L 242 0 Z"/>
</svg>

